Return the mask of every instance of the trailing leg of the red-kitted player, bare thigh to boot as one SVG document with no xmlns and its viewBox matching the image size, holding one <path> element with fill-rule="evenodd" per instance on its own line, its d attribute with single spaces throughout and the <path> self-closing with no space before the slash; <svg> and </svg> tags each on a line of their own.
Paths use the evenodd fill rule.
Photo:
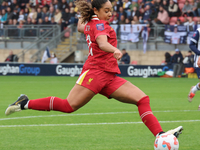
<svg viewBox="0 0 200 150">
<path fill-rule="evenodd" d="M 5 114 L 10 115 L 14 112 L 24 109 L 34 109 L 41 111 L 55 110 L 71 113 L 89 102 L 94 95 L 95 93 L 93 91 L 78 84 L 76 84 L 70 91 L 67 99 L 61 99 L 58 97 L 46 97 L 29 100 L 26 95 L 21 95 L 16 102 L 8 106 Z"/>
</svg>

